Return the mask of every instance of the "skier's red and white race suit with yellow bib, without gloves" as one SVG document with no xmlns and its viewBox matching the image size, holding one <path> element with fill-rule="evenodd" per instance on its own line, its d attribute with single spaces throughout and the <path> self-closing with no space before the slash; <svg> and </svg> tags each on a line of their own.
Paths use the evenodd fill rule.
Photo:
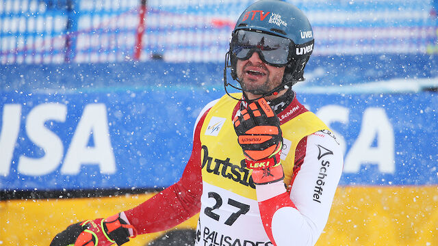
<svg viewBox="0 0 438 246">
<path fill-rule="evenodd" d="M 200 213 L 198 246 L 314 245 L 329 217 L 343 153 L 329 128 L 291 94 L 293 100 L 276 110 L 283 182 L 253 183 L 232 123 L 245 104 L 226 95 L 196 120 L 192 155 L 179 182 L 121 216 L 142 234 Z"/>
</svg>

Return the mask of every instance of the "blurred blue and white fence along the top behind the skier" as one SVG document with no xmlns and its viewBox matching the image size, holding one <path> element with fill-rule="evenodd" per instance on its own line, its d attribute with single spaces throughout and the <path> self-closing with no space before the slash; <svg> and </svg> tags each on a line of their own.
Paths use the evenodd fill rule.
<svg viewBox="0 0 438 246">
<path fill-rule="evenodd" d="M 0 61 L 222 61 L 252 2 L 1 0 Z M 315 55 L 438 52 L 434 0 L 289 2 L 311 20 Z"/>
</svg>

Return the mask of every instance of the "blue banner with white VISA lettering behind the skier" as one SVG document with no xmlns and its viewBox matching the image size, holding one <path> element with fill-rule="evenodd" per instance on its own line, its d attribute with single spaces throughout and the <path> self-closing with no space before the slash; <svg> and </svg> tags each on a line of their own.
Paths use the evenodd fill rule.
<svg viewBox="0 0 438 246">
<path fill-rule="evenodd" d="M 0 189 L 167 187 L 198 113 L 222 92 L 154 87 L 0 92 Z M 300 94 L 345 152 L 342 185 L 438 184 L 438 96 Z"/>
</svg>

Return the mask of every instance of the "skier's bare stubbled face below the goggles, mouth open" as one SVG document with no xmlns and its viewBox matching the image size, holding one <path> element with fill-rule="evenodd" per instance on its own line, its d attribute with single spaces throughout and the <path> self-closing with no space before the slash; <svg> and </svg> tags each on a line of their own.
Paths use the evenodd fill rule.
<svg viewBox="0 0 438 246">
<path fill-rule="evenodd" d="M 276 67 L 264 63 L 257 52 L 247 60 L 237 59 L 237 78 L 247 96 L 261 95 L 281 84 L 285 66 Z M 252 95 L 251 95 L 252 94 Z"/>
</svg>

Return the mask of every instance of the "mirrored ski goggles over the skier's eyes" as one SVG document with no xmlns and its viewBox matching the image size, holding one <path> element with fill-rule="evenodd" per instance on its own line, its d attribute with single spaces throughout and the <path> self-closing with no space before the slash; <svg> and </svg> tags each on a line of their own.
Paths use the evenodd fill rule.
<svg viewBox="0 0 438 246">
<path fill-rule="evenodd" d="M 238 30 L 231 38 L 231 54 L 238 59 L 246 60 L 254 52 L 259 53 L 260 59 L 272 66 L 285 66 L 289 63 L 289 51 L 292 41 L 288 38 L 259 33 L 255 31 Z"/>
</svg>

